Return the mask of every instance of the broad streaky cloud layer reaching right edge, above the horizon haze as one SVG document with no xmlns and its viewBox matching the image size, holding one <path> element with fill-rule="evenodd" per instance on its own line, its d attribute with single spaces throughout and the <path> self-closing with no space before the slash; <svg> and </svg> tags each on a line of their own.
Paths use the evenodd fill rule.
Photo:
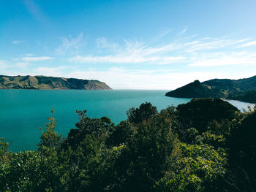
<svg viewBox="0 0 256 192">
<path fill-rule="evenodd" d="M 185 30 L 186 29 L 186 30 Z M 187 31 L 187 28 L 184 32 Z M 181 31 L 182 32 L 182 31 Z M 143 41 L 124 39 L 124 44 L 113 44 L 105 37 L 96 40 L 99 49 L 108 48 L 106 55 L 76 55 L 69 61 L 80 64 L 187 64 L 188 66 L 223 66 L 255 64 L 253 53 L 236 51 L 245 39 L 184 37 L 164 45 L 152 46 Z"/>
</svg>

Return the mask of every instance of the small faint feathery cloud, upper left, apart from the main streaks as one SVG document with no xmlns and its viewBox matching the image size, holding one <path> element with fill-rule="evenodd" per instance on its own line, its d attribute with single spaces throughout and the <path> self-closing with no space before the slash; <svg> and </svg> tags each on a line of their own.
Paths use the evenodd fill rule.
<svg viewBox="0 0 256 192">
<path fill-rule="evenodd" d="M 78 54 L 78 51 L 80 47 L 82 47 L 85 42 L 83 42 L 83 32 L 80 32 L 78 34 L 78 37 L 73 38 L 72 36 L 69 37 L 61 37 L 60 38 L 62 43 L 61 45 L 56 49 L 57 53 L 59 54 L 65 54 L 68 51 L 72 51 L 76 54 Z"/>
</svg>

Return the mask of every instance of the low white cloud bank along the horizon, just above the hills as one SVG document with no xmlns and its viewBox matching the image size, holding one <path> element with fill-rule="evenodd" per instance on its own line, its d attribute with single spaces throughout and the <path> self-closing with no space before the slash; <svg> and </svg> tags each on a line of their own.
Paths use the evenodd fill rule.
<svg viewBox="0 0 256 192">
<path fill-rule="evenodd" d="M 67 70 L 69 69 L 69 70 Z M 15 73 L 24 74 L 24 73 Z M 28 73 L 26 73 L 28 74 Z M 30 70 L 31 75 L 45 75 L 53 77 L 73 77 L 84 80 L 100 80 L 106 82 L 113 89 L 158 89 L 173 90 L 194 80 L 210 80 L 213 78 L 239 79 L 251 77 L 254 72 L 173 72 L 172 70 L 134 70 L 111 67 L 107 70 L 77 70 L 67 66 L 38 67 Z"/>
</svg>

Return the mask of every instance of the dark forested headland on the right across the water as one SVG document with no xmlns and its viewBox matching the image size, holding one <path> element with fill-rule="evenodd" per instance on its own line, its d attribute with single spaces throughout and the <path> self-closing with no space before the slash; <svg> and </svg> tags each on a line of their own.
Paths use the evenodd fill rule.
<svg viewBox="0 0 256 192">
<path fill-rule="evenodd" d="M 166 96 L 181 98 L 222 98 L 256 103 L 256 76 L 240 80 L 214 79 L 205 82 L 195 80 Z"/>
</svg>

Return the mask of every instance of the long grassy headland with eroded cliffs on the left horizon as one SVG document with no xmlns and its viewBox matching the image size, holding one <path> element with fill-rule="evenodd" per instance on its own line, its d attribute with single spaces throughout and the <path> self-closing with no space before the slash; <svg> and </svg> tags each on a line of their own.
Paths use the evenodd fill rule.
<svg viewBox="0 0 256 192">
<path fill-rule="evenodd" d="M 105 82 L 45 76 L 0 75 L 0 89 L 111 89 Z"/>
</svg>

